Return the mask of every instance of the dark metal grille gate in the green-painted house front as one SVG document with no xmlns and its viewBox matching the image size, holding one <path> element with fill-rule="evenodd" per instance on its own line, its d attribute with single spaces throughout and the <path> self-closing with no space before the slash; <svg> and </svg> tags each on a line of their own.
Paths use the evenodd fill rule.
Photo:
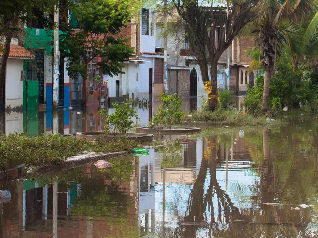
<svg viewBox="0 0 318 238">
<path fill-rule="evenodd" d="M 27 63 L 27 81 L 38 81 L 38 103 L 44 103 L 44 50 L 30 49 L 35 55 Z"/>
</svg>

